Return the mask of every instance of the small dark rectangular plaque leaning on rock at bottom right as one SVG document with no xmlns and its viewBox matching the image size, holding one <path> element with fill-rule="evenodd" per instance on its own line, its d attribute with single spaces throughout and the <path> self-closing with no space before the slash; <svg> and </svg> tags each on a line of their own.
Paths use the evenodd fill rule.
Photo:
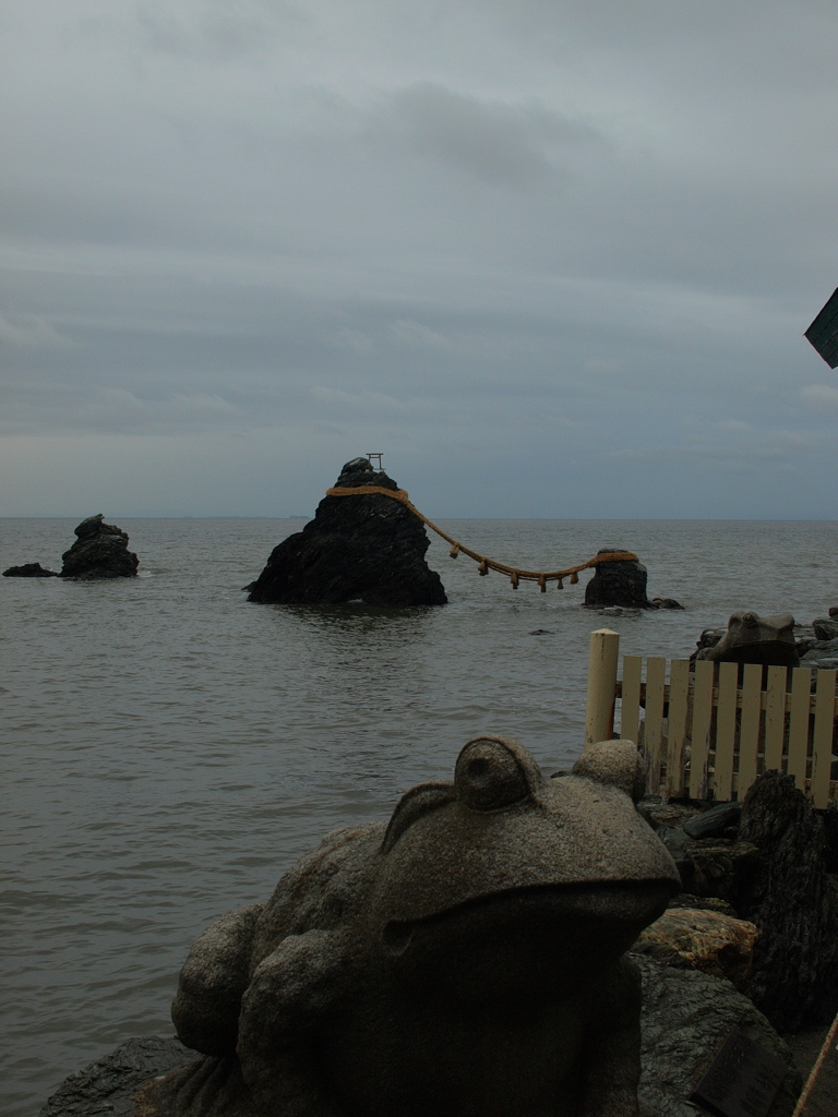
<svg viewBox="0 0 838 1117">
<path fill-rule="evenodd" d="M 766 1117 L 785 1063 L 735 1028 L 689 1095 L 714 1117 Z"/>
</svg>

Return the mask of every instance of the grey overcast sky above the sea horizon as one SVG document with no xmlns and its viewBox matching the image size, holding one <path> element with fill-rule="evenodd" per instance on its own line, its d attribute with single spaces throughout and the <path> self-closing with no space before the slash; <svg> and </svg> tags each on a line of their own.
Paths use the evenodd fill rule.
<svg viewBox="0 0 838 1117">
<path fill-rule="evenodd" d="M 0 0 L 0 515 L 834 518 L 835 0 Z"/>
</svg>

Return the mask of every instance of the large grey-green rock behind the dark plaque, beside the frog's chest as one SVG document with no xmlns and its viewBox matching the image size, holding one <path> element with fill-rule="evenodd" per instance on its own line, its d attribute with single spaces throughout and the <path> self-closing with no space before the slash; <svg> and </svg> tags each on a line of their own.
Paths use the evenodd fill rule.
<svg viewBox="0 0 838 1117">
<path fill-rule="evenodd" d="M 790 1117 L 800 1073 L 788 1044 L 730 982 L 692 970 L 635 958 L 642 977 L 640 1096 L 659 1117 L 698 1117 L 689 1091 L 734 1028 L 779 1056 L 788 1072 L 769 1117 Z"/>
</svg>

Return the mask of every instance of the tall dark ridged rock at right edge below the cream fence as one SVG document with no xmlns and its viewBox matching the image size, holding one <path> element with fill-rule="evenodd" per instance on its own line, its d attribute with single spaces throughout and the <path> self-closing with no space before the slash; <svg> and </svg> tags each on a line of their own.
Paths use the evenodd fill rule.
<svg viewBox="0 0 838 1117">
<path fill-rule="evenodd" d="M 740 838 L 758 849 L 730 897 L 756 924 L 745 992 L 781 1031 L 838 1012 L 838 887 L 820 818 L 794 781 L 765 772 L 745 795 Z"/>
</svg>

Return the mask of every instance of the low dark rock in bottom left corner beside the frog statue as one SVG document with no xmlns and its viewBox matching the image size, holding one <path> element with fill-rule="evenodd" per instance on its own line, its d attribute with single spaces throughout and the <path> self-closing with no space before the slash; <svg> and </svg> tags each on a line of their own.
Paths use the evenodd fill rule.
<svg viewBox="0 0 838 1117">
<path fill-rule="evenodd" d="M 194 1052 L 172 1038 L 141 1035 L 70 1075 L 39 1117 L 136 1117 L 133 1095 L 155 1075 L 182 1067 Z"/>
</svg>

